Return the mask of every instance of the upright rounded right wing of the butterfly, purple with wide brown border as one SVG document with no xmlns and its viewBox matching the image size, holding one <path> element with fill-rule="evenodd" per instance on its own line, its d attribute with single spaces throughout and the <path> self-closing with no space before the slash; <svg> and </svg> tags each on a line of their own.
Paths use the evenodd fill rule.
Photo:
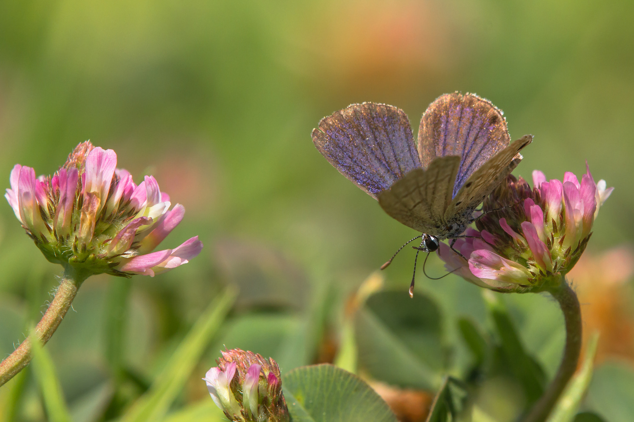
<svg viewBox="0 0 634 422">
<path fill-rule="evenodd" d="M 458 92 L 432 102 L 420 120 L 418 154 L 423 168 L 436 157 L 461 157 L 453 196 L 467 179 L 510 144 L 507 122 L 490 101 Z"/>
</svg>

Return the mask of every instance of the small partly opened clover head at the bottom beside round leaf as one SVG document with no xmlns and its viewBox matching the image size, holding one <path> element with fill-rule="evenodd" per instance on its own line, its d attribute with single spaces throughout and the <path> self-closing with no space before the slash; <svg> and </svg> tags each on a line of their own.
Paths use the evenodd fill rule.
<svg viewBox="0 0 634 422">
<path fill-rule="evenodd" d="M 224 415 L 240 422 L 288 421 L 278 364 L 240 349 L 221 353 L 203 380 Z"/>
</svg>

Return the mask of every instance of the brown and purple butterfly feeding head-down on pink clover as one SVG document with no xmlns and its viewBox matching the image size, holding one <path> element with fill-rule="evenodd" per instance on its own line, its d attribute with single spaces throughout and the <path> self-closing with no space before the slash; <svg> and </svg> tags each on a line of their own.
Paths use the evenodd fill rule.
<svg viewBox="0 0 634 422">
<path fill-rule="evenodd" d="M 452 239 L 453 249 L 475 220 L 475 208 L 517 167 L 519 151 L 533 140 L 525 135 L 511 142 L 500 109 L 459 92 L 429 105 L 417 144 L 403 110 L 374 102 L 321 119 L 312 137 L 328 162 L 385 213 L 422 233 L 415 249 L 426 252 L 444 239 Z M 413 280 L 410 295 L 412 289 Z"/>
</svg>

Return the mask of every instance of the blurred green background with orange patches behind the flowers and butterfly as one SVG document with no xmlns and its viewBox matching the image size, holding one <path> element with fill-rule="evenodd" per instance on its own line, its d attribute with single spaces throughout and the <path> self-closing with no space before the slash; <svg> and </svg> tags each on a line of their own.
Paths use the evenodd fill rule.
<svg viewBox="0 0 634 422">
<path fill-rule="evenodd" d="M 414 234 L 314 149 L 312 128 L 353 102 L 399 106 L 417 130 L 444 92 L 490 99 L 514 139 L 534 135 L 517 175 L 538 168 L 562 178 L 582 173 L 588 160 L 595 180 L 616 187 L 588 253 L 631 242 L 632 16 L 634 3 L 617 0 L 0 2 L 6 187 L 15 163 L 53 173 L 90 139 L 114 149 L 136 182 L 155 175 L 172 203 L 184 204 L 185 219 L 165 247 L 192 235 L 205 244 L 165 275 L 84 283 L 48 345 L 68 402 L 103 402 L 84 403 L 87 416 L 77 420 L 112 411 L 103 387 L 112 378 L 105 352 L 112 312 L 127 313 L 122 359 L 139 378 L 126 406 L 228 282 L 242 293 L 181 405 L 205 398 L 197 379 L 223 344 L 274 356 L 283 371 L 332 361 L 346 297 Z M 412 258 L 404 252 L 385 272 L 388 287 L 405 291 Z M 6 356 L 39 320 L 60 275 L 8 204 L 0 207 L 0 268 Z M 428 271 L 443 271 L 436 257 Z M 479 290 L 467 282 L 420 277 L 418 285 L 448 315 L 486 319 Z M 553 302 L 538 295 L 507 302 L 552 374 L 563 341 Z M 455 337 L 455 325 L 447 326 Z M 550 343 L 543 330 L 553 333 Z M 297 333 L 305 341 L 288 340 Z M 595 381 L 609 385 L 621 372 L 610 367 Z M 20 418 L 42 420 L 37 389 L 27 392 Z"/>
</svg>

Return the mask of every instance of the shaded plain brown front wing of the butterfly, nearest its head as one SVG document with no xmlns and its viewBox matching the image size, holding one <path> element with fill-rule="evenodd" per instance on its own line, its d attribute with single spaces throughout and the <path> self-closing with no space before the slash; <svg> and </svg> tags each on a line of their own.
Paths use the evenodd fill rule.
<svg viewBox="0 0 634 422">
<path fill-rule="evenodd" d="M 440 157 L 427 170 L 410 171 L 378 194 L 378 203 L 392 218 L 404 225 L 435 236 L 443 234 L 444 214 L 460 166 L 460 157 Z"/>
</svg>

